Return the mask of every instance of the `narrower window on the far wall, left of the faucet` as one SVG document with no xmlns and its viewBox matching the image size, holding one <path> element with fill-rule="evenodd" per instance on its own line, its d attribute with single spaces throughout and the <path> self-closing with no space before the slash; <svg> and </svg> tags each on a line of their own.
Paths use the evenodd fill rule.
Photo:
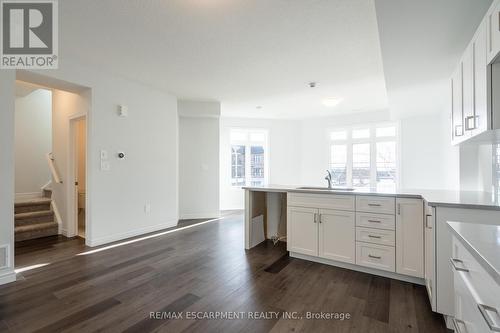
<svg viewBox="0 0 500 333">
<path fill-rule="evenodd" d="M 231 130 L 231 185 L 263 186 L 267 182 L 267 131 Z"/>
</svg>

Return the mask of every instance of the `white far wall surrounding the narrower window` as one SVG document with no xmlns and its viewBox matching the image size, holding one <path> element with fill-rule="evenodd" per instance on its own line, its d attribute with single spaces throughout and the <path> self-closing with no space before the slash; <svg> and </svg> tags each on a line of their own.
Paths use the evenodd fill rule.
<svg viewBox="0 0 500 333">
<path fill-rule="evenodd" d="M 300 183 L 301 128 L 299 121 L 221 118 L 220 205 L 222 210 L 244 207 L 244 191 L 231 186 L 231 128 L 267 129 L 269 183 Z"/>
</svg>

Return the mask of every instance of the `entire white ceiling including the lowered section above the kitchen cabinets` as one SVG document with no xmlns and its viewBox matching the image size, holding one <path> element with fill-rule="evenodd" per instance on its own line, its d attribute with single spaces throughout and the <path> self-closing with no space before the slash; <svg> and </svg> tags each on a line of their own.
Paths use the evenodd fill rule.
<svg viewBox="0 0 500 333">
<path fill-rule="evenodd" d="M 440 94 L 426 82 L 449 76 L 489 3 L 64 0 L 60 59 L 183 99 L 220 101 L 225 116 L 375 111 L 389 107 L 388 94 L 404 108 L 418 105 L 409 97 Z M 309 88 L 310 81 L 317 87 Z M 321 100 L 327 97 L 343 101 L 326 108 Z M 419 112 L 420 106 L 407 109 Z"/>
</svg>

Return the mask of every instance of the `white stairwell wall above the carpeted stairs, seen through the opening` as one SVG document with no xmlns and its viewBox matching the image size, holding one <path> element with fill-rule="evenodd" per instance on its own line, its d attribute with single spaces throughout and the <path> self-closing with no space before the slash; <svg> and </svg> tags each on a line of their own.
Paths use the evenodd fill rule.
<svg viewBox="0 0 500 333">
<path fill-rule="evenodd" d="M 52 93 L 38 89 L 15 102 L 16 197 L 41 195 L 50 179 L 45 154 L 52 151 Z"/>
</svg>

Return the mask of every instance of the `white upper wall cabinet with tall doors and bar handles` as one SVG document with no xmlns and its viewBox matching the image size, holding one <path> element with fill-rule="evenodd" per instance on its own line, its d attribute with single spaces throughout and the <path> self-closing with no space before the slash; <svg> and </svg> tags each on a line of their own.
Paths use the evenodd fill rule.
<svg viewBox="0 0 500 333">
<path fill-rule="evenodd" d="M 458 144 L 489 126 L 487 20 L 483 20 L 451 77 L 452 143 Z"/>
</svg>

